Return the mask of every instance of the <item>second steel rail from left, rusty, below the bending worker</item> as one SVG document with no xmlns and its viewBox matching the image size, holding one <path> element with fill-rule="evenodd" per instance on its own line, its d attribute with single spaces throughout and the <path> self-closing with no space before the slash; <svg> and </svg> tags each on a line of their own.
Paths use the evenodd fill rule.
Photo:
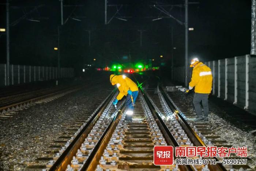
<svg viewBox="0 0 256 171">
<path fill-rule="evenodd" d="M 112 121 L 109 123 L 108 127 L 106 128 L 105 132 L 102 134 L 101 138 L 95 145 L 93 151 L 91 152 L 90 156 L 86 160 L 86 162 L 83 164 L 83 167 L 80 171 L 91 171 L 95 170 L 97 167 L 98 161 L 100 160 L 104 149 L 107 147 L 107 144 L 118 125 L 121 115 L 125 109 L 125 105 L 121 107 L 121 109 L 117 112 L 116 116 L 112 119 Z"/>
</svg>

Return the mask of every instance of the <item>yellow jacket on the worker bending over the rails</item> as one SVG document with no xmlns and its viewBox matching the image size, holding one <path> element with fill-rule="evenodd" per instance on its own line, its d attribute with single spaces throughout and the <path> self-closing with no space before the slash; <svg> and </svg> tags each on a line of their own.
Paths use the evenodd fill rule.
<svg viewBox="0 0 256 171">
<path fill-rule="evenodd" d="M 128 90 L 138 91 L 137 85 L 127 76 L 110 75 L 110 81 L 113 86 L 116 84 L 119 90 L 119 94 L 116 97 L 117 100 L 120 100 L 123 98 L 123 96 L 126 96 Z"/>
</svg>

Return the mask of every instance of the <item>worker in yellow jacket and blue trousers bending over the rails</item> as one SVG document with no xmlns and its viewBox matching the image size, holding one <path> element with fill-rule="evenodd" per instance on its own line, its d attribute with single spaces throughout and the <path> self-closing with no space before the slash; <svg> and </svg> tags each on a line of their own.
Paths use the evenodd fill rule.
<svg viewBox="0 0 256 171">
<path fill-rule="evenodd" d="M 118 100 L 126 96 L 126 115 L 128 120 L 132 120 L 132 114 L 134 109 L 134 104 L 138 96 L 137 85 L 125 75 L 110 75 L 110 83 L 112 86 L 117 85 L 119 94 L 113 101 L 113 105 L 116 105 Z"/>
</svg>

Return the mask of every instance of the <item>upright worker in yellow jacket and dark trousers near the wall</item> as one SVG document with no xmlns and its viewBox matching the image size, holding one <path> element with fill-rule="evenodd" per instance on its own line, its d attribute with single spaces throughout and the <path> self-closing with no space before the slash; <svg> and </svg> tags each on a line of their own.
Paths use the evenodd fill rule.
<svg viewBox="0 0 256 171">
<path fill-rule="evenodd" d="M 208 96 L 212 90 L 212 73 L 211 69 L 200 62 L 197 58 L 191 60 L 190 67 L 193 67 L 192 78 L 189 83 L 189 90 L 195 87 L 195 95 L 193 104 L 196 110 L 197 118 L 194 121 L 205 120 L 208 121 L 209 106 Z M 202 115 L 202 109 L 200 102 L 202 101 L 204 116 Z"/>
</svg>

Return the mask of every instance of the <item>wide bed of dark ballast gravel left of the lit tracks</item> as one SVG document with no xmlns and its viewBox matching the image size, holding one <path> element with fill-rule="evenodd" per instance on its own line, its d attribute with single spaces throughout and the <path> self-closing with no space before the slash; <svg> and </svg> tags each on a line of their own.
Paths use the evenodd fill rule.
<svg viewBox="0 0 256 171">
<path fill-rule="evenodd" d="M 26 170 L 65 129 L 112 91 L 102 83 L 92 85 L 0 119 L 0 170 Z"/>
</svg>

